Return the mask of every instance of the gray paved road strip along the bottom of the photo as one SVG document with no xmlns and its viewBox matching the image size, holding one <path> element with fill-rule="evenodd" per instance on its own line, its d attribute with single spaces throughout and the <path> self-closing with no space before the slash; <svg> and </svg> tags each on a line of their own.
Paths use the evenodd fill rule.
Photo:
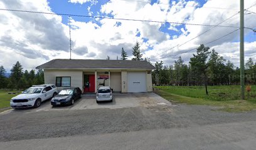
<svg viewBox="0 0 256 150">
<path fill-rule="evenodd" d="M 181 129 L 32 139 L 0 143 L 2 149 L 246 149 L 255 150 L 255 121 Z"/>
</svg>

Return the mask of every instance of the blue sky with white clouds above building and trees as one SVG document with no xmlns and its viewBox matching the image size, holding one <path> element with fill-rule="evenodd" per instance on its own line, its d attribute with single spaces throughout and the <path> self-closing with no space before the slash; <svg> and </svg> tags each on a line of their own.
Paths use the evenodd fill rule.
<svg viewBox="0 0 256 150">
<path fill-rule="evenodd" d="M 255 4 L 255 0 L 246 0 L 245 9 Z M 4 66 L 9 72 L 13 64 L 19 61 L 23 70 L 30 70 L 51 59 L 69 59 L 69 27 L 72 59 L 106 59 L 107 56 L 117 59 L 120 58 L 122 47 L 127 52 L 128 59 L 132 59 L 132 47 L 139 42 L 142 57 L 150 58 L 153 64 L 163 61 L 165 65 L 170 65 L 179 56 L 184 59 L 184 63 L 188 63 L 189 58 L 196 52 L 189 51 L 190 49 L 238 29 L 239 6 L 239 1 L 234 0 L 1 0 L 1 9 L 78 14 L 98 18 L 1 11 L 0 66 Z M 233 17 L 225 21 L 231 16 Z M 256 6 L 253 6 L 245 11 L 245 27 L 255 29 L 255 20 Z M 232 27 L 189 25 L 216 25 L 222 21 L 225 22 L 220 24 L 221 26 Z M 210 31 L 196 37 L 210 28 Z M 215 49 L 225 59 L 238 66 L 239 36 L 238 30 L 206 46 Z M 194 37 L 196 38 L 193 39 Z M 189 41 L 190 39 L 193 40 Z M 186 44 L 183 44 L 184 42 Z M 185 51 L 189 53 L 184 53 Z M 166 56 L 171 57 L 164 58 Z M 245 29 L 245 60 L 248 58 L 256 61 L 256 33 Z"/>
</svg>

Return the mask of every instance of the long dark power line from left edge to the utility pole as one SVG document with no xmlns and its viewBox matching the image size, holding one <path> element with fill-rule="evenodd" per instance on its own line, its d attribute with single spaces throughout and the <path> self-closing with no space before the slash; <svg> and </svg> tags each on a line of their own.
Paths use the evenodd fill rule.
<svg viewBox="0 0 256 150">
<path fill-rule="evenodd" d="M 151 21 L 151 20 L 142 20 L 142 19 L 126 19 L 126 18 L 115 18 L 115 17 L 103 17 L 103 16 L 86 16 L 80 14 L 63 14 L 63 13 L 53 13 L 53 12 L 40 12 L 40 11 L 25 11 L 18 9 L 3 9 L 0 8 L 0 11 L 14 11 L 14 12 L 29 12 L 36 14 L 52 14 L 52 15 L 60 15 L 60 16 L 75 16 L 75 17 L 92 17 L 92 18 L 100 18 L 100 19 L 114 19 L 114 20 L 122 20 L 122 21 L 141 21 L 141 22 L 157 22 L 157 23 L 168 23 L 168 24 L 183 24 L 183 25 L 191 25 L 191 26 L 216 26 L 211 24 L 192 24 L 192 23 L 182 23 L 182 22 L 169 22 L 169 21 Z M 218 26 L 218 27 L 234 27 L 238 26 Z"/>
</svg>

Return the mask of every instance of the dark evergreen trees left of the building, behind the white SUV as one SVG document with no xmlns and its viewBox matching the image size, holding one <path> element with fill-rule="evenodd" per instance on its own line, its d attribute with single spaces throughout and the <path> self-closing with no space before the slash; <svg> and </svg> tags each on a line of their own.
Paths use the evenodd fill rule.
<svg viewBox="0 0 256 150">
<path fill-rule="evenodd" d="M 43 70 L 23 71 L 21 63 L 17 61 L 11 68 L 11 75 L 5 76 L 6 70 L 4 66 L 0 66 L 0 89 L 26 89 L 34 84 L 44 84 Z"/>
</svg>

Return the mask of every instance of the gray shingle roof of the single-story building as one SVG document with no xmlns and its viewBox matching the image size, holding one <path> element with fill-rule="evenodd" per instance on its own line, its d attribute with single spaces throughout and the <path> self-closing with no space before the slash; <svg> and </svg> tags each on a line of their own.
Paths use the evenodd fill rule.
<svg viewBox="0 0 256 150">
<path fill-rule="evenodd" d="M 100 59 L 53 59 L 36 69 L 155 69 L 147 61 Z"/>
</svg>

